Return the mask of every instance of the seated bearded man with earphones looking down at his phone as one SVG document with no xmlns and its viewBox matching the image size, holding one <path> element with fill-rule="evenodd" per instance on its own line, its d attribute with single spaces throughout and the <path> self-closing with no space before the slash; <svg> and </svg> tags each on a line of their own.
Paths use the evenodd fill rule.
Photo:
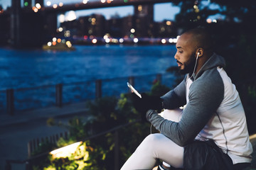
<svg viewBox="0 0 256 170">
<path fill-rule="evenodd" d="M 245 111 L 212 42 L 203 28 L 186 31 L 178 38 L 174 56 L 181 73 L 186 74 L 181 84 L 161 98 L 132 94 L 134 107 L 161 133 L 146 137 L 122 170 L 152 169 L 157 159 L 184 169 L 250 165 L 252 145 Z M 180 114 L 166 113 L 176 116 L 176 121 L 157 113 L 181 106 Z"/>
</svg>

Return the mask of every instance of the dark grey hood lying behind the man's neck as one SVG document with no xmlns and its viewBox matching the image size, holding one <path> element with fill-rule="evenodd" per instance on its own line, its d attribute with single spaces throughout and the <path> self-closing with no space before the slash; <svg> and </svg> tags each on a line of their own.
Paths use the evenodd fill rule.
<svg viewBox="0 0 256 170">
<path fill-rule="evenodd" d="M 225 67 L 225 60 L 220 55 L 216 55 L 213 53 L 212 56 L 207 60 L 205 64 L 203 64 L 203 67 L 199 70 L 198 74 L 193 75 L 194 79 L 198 79 L 198 77 L 201 77 L 203 72 L 205 72 L 207 69 L 212 69 L 215 67 Z"/>
</svg>

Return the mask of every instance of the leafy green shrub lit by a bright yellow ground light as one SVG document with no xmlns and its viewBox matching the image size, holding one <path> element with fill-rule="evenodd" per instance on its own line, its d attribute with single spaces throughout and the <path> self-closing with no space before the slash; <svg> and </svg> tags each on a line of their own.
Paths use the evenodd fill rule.
<svg viewBox="0 0 256 170">
<path fill-rule="evenodd" d="M 150 95 L 163 95 L 169 88 L 157 82 L 152 86 Z M 49 155 L 42 161 L 43 164 L 36 164 L 33 169 L 113 169 L 114 148 L 118 135 L 119 167 L 131 156 L 144 138 L 150 134 L 151 125 L 140 121 L 142 115 L 132 106 L 130 94 L 121 94 L 120 98 L 104 97 L 95 101 L 87 102 L 87 114 L 84 118 L 72 118 L 65 126 L 70 132 L 68 140 L 60 138 L 54 147 L 65 147 L 72 143 L 83 141 L 73 154 L 67 157 L 53 158 Z M 53 125 L 54 120 L 50 120 Z M 133 123 L 132 125 L 120 128 L 115 132 L 107 132 L 95 138 L 90 138 L 100 132 L 105 132 L 120 125 Z M 116 133 L 118 132 L 118 133 Z M 153 129 L 153 132 L 157 132 Z M 49 148 L 48 148 L 49 149 Z M 43 148 L 40 150 L 43 152 Z M 38 154 L 38 152 L 37 152 Z"/>
</svg>

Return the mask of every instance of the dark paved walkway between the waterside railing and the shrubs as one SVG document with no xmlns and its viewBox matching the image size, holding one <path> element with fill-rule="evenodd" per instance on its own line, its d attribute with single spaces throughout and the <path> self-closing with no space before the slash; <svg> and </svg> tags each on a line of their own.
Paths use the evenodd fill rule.
<svg viewBox="0 0 256 170">
<path fill-rule="evenodd" d="M 56 135 L 67 131 L 63 127 L 46 125 L 48 118 L 56 122 L 67 122 L 75 115 L 86 116 L 85 102 L 74 103 L 62 108 L 50 107 L 34 111 L 22 111 L 15 115 L 0 114 L 0 169 L 4 169 L 6 159 L 25 160 L 30 140 Z M 11 164 L 12 170 L 23 170 L 25 164 Z"/>
</svg>

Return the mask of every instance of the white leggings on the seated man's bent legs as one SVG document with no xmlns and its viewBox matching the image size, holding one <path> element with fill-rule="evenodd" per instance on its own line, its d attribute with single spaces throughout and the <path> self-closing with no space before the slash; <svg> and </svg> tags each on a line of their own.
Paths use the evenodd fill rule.
<svg viewBox="0 0 256 170">
<path fill-rule="evenodd" d="M 165 110 L 161 113 L 166 119 L 178 122 L 181 119 L 181 111 Z M 122 166 L 122 170 L 153 169 L 156 159 L 174 166 L 183 167 L 183 147 L 176 145 L 168 137 L 156 133 L 148 135 L 137 147 L 136 151 Z"/>
</svg>

